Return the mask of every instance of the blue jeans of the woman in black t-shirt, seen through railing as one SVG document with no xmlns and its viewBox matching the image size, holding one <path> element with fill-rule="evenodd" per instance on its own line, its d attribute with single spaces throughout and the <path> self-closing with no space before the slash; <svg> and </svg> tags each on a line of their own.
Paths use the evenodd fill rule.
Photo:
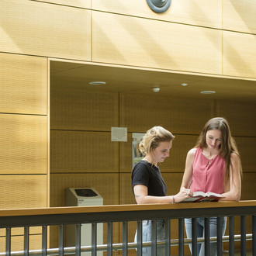
<svg viewBox="0 0 256 256">
<path fill-rule="evenodd" d="M 142 241 L 149 242 L 151 240 L 151 220 L 144 220 L 142 223 Z M 165 240 L 165 224 L 164 220 L 157 220 L 157 241 Z M 137 243 L 137 230 L 134 237 L 134 242 Z M 142 255 L 151 256 L 151 247 L 142 247 Z M 157 256 L 165 255 L 165 247 L 157 246 Z"/>
</svg>

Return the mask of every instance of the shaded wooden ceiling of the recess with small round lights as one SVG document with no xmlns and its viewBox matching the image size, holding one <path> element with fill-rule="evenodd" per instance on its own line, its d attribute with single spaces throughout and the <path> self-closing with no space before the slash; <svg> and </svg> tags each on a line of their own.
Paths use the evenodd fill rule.
<svg viewBox="0 0 256 256">
<path fill-rule="evenodd" d="M 90 81 L 106 81 L 106 85 L 89 85 Z M 182 86 L 182 83 L 188 85 Z M 72 86 L 101 92 L 157 94 L 175 98 L 256 102 L 256 79 L 241 80 L 91 63 L 50 61 L 50 86 Z M 160 92 L 153 92 L 154 87 L 159 87 Z M 216 93 L 202 95 L 201 91 Z"/>
</svg>

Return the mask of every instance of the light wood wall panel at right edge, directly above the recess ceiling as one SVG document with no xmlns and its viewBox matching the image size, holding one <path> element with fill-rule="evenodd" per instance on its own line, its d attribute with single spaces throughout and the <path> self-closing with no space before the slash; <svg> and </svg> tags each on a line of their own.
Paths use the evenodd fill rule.
<svg viewBox="0 0 256 256">
<path fill-rule="evenodd" d="M 223 31 L 223 74 L 256 78 L 256 36 Z"/>
</svg>

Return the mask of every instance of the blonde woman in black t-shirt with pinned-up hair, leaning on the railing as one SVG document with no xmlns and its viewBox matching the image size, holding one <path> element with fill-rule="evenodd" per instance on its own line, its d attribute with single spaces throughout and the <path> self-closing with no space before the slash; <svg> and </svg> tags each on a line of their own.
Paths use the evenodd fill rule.
<svg viewBox="0 0 256 256">
<path fill-rule="evenodd" d="M 137 204 L 174 203 L 192 196 L 190 189 L 182 189 L 176 195 L 166 195 L 166 185 L 157 165 L 169 157 L 172 140 L 175 137 L 161 126 L 154 126 L 147 131 L 139 144 L 144 158 L 133 168 L 132 187 Z M 157 220 L 157 240 L 164 240 L 163 220 Z M 143 242 L 151 240 L 151 221 L 143 222 Z M 135 235 L 137 241 L 137 234 Z M 143 255 L 151 255 L 150 247 L 143 248 Z M 164 255 L 164 247 L 157 247 L 157 255 Z"/>
</svg>

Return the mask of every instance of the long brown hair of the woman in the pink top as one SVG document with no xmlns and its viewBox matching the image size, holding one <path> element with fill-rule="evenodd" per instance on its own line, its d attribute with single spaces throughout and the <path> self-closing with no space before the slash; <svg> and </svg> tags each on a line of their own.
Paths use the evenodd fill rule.
<svg viewBox="0 0 256 256">
<path fill-rule="evenodd" d="M 199 139 L 197 140 L 197 143 L 195 147 L 207 147 L 206 144 L 206 133 L 209 130 L 220 130 L 221 131 L 221 144 L 219 148 L 219 154 L 221 157 L 225 159 L 226 164 L 226 170 L 225 170 L 225 178 L 230 178 L 230 167 L 231 166 L 231 159 L 230 156 L 232 153 L 237 154 L 237 156 L 240 158 L 240 154 L 237 150 L 237 144 L 234 140 L 234 138 L 231 136 L 230 132 L 230 126 L 227 123 L 227 120 L 223 117 L 214 117 L 212 119 L 209 119 L 209 121 L 206 123 L 206 125 L 203 127 L 201 134 L 199 135 Z M 242 175 L 242 165 L 240 162 L 240 175 Z"/>
</svg>

